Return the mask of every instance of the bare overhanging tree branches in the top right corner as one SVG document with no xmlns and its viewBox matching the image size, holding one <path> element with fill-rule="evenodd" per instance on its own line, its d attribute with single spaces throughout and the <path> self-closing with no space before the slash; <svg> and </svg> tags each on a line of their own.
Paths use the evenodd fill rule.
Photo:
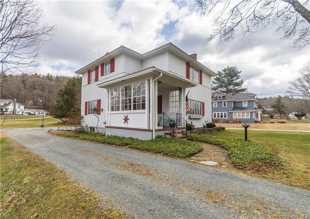
<svg viewBox="0 0 310 219">
<path fill-rule="evenodd" d="M 277 25 L 284 39 L 293 39 L 295 51 L 310 43 L 308 0 L 194 0 L 203 15 L 214 15 L 213 33 L 208 38 L 231 41 L 236 31 L 255 33 L 255 28 Z"/>
</svg>

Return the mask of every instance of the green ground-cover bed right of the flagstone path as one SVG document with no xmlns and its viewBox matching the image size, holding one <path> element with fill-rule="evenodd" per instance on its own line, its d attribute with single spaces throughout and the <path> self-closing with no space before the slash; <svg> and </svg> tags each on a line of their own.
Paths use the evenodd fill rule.
<svg viewBox="0 0 310 219">
<path fill-rule="evenodd" d="M 239 138 L 225 138 L 209 134 L 189 134 L 188 140 L 218 145 L 228 150 L 232 163 L 239 169 L 267 171 L 282 169 L 279 159 L 267 147 Z"/>
</svg>

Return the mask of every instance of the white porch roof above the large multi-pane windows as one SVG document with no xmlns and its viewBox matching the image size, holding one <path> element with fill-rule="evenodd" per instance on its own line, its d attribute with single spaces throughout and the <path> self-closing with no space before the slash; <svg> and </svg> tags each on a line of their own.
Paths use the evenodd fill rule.
<svg viewBox="0 0 310 219">
<path fill-rule="evenodd" d="M 128 75 L 124 75 L 122 77 L 114 78 L 109 81 L 105 81 L 103 83 L 98 84 L 98 87 L 101 88 L 113 88 L 117 86 L 122 86 L 128 83 L 134 83 L 135 81 L 145 80 L 151 78 L 156 78 L 162 73 L 162 77 L 158 80 L 168 83 L 170 85 L 174 85 L 176 87 L 188 88 L 197 86 L 195 82 L 190 81 L 187 78 L 179 76 L 173 72 L 165 72 L 159 68 L 150 67 L 146 68 L 139 72 L 134 72 Z"/>
</svg>

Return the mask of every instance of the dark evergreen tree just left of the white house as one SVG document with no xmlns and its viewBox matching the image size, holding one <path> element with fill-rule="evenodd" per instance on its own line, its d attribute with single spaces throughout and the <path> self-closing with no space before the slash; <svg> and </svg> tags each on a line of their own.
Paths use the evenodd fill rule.
<svg viewBox="0 0 310 219">
<path fill-rule="evenodd" d="M 51 115 L 62 120 L 75 105 L 81 103 L 79 94 L 81 94 L 80 80 L 76 77 L 70 78 L 64 87 L 59 90 Z"/>
</svg>

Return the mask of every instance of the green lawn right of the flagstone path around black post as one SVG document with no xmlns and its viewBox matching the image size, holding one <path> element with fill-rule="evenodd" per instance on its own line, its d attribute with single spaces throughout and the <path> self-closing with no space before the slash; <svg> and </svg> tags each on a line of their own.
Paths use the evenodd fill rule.
<svg viewBox="0 0 310 219">
<path fill-rule="evenodd" d="M 281 124 L 280 124 L 281 125 Z M 228 129 L 212 135 L 229 138 L 244 138 L 243 130 Z M 264 144 L 278 151 L 279 159 L 284 160 L 284 174 L 270 171 L 259 174 L 278 182 L 310 189 L 310 134 L 303 132 L 277 132 L 248 130 L 248 139 Z M 255 174 L 255 173 L 253 173 Z"/>
</svg>

